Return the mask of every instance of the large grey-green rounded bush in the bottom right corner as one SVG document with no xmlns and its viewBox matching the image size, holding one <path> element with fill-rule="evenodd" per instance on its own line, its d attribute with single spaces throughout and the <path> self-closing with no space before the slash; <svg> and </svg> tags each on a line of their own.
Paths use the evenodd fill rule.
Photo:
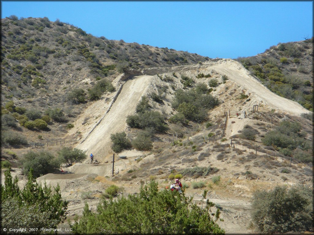
<svg viewBox="0 0 314 235">
<path fill-rule="evenodd" d="M 302 185 L 256 191 L 252 197 L 251 215 L 259 232 L 313 231 L 313 192 L 310 187 Z"/>
</svg>

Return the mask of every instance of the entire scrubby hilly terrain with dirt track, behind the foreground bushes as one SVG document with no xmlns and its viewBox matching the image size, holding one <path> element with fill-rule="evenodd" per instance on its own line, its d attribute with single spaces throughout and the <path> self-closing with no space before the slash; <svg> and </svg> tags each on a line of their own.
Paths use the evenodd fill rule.
<svg viewBox="0 0 314 235">
<path fill-rule="evenodd" d="M 12 16 L 2 27 L 1 162 L 11 164 L 20 187 L 30 165 L 37 182 L 60 185 L 71 221 L 86 202 L 95 212 L 111 185 L 119 187 L 116 198 L 149 180 L 162 190 L 181 178 L 199 205 L 208 190 L 226 232 L 252 233 L 256 190 L 312 187 L 311 75 L 288 73 L 299 64 L 279 63 L 287 56 L 280 45 L 236 61 L 96 38 L 47 18 Z M 309 48 L 297 57 L 306 71 Z M 291 88 L 296 75 L 299 86 Z M 281 86 L 294 97 L 279 94 Z M 43 146 L 29 145 L 37 142 Z M 63 161 L 61 173 L 54 163 L 63 147 L 87 155 Z"/>
</svg>

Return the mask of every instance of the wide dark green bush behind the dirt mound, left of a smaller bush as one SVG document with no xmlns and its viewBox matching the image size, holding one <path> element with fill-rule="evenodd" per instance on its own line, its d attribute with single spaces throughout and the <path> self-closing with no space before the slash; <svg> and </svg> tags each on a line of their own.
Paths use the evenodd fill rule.
<svg viewBox="0 0 314 235">
<path fill-rule="evenodd" d="M 30 169 L 33 169 L 35 177 L 53 173 L 60 169 L 60 160 L 47 151 L 29 151 L 23 155 L 21 163 L 24 174 L 28 174 Z"/>
</svg>

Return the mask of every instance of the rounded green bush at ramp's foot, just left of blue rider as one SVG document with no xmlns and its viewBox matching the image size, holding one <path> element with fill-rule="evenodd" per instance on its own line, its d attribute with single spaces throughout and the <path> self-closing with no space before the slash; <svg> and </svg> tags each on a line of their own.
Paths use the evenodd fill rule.
<svg viewBox="0 0 314 235">
<path fill-rule="evenodd" d="M 58 151 L 58 157 L 61 163 L 72 165 L 74 162 L 82 162 L 86 159 L 86 151 L 80 149 L 72 149 L 71 147 L 63 147 Z"/>
</svg>

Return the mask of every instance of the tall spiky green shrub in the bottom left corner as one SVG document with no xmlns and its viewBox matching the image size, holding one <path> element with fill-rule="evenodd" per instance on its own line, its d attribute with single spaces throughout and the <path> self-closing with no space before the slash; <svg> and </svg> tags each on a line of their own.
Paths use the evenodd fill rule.
<svg viewBox="0 0 314 235">
<path fill-rule="evenodd" d="M 1 226 L 34 227 L 56 229 L 66 218 L 67 201 L 62 201 L 60 187 L 38 184 L 32 175 L 24 189 L 19 189 L 17 177 L 13 180 L 10 171 L 4 173 L 4 187 L 1 186 Z"/>
</svg>

